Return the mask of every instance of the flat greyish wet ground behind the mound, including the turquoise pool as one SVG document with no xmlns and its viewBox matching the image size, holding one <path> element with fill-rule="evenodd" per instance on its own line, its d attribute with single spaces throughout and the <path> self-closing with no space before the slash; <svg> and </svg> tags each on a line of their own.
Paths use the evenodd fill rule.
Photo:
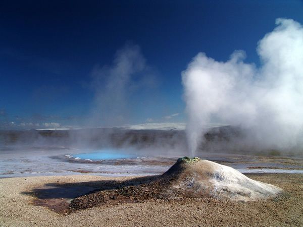
<svg viewBox="0 0 303 227">
<path fill-rule="evenodd" d="M 167 171 L 184 154 L 148 155 L 144 150 L 85 150 L 85 149 L 2 149 L 0 178 L 99 175 L 142 176 Z M 157 153 L 157 152 L 154 152 Z M 231 166 L 241 173 L 303 173 L 303 158 L 293 156 L 263 156 L 240 154 L 198 153 L 208 159 Z"/>
</svg>

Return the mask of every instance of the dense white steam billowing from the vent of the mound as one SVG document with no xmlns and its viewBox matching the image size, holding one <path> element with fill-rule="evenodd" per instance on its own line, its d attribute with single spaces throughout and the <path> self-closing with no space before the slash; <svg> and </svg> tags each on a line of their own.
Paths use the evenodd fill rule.
<svg viewBox="0 0 303 227">
<path fill-rule="evenodd" d="M 303 28 L 290 19 L 276 25 L 258 43 L 260 68 L 236 50 L 227 62 L 198 53 L 182 72 L 192 154 L 214 121 L 245 131 L 250 147 L 303 147 Z"/>
</svg>

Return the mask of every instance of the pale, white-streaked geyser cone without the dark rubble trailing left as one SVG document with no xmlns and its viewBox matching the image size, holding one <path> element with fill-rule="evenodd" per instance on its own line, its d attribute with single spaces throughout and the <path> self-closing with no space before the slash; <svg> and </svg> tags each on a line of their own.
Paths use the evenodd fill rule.
<svg viewBox="0 0 303 227">
<path fill-rule="evenodd" d="M 167 193 L 184 197 L 258 200 L 275 197 L 282 189 L 247 178 L 236 169 L 199 158 L 179 158 L 162 176 Z"/>
</svg>

